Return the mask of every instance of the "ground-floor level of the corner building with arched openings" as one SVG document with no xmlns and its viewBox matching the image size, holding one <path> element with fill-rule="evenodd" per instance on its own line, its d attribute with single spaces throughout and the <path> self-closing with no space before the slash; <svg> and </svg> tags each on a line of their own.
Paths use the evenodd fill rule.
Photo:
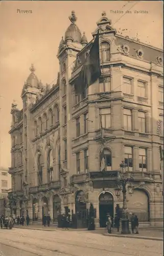
<svg viewBox="0 0 164 256">
<path fill-rule="evenodd" d="M 108 185 L 107 185 L 108 184 Z M 77 227 L 86 227 L 86 216 L 90 203 L 95 210 L 96 227 L 104 226 L 106 214 L 115 214 L 117 204 L 122 208 L 123 195 L 115 196 L 115 187 L 112 183 L 101 186 L 101 182 L 74 183 L 72 187 L 37 191 L 29 194 L 28 200 L 16 198 L 12 202 L 12 213 L 16 216 L 28 214 L 33 221 L 41 221 L 43 215 L 50 214 L 53 222 L 57 222 L 59 214 L 68 211 L 76 215 Z M 109 186 L 110 185 L 110 186 Z M 161 184 L 155 182 L 134 182 L 134 193 L 127 193 L 128 211 L 134 212 L 139 219 L 140 226 L 162 226 L 163 199 Z"/>
</svg>

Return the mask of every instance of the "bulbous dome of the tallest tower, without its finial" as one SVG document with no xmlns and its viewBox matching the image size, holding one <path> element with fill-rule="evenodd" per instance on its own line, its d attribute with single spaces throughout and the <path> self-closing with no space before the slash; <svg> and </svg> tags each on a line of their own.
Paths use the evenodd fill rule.
<svg viewBox="0 0 164 256">
<path fill-rule="evenodd" d="M 72 37 L 73 41 L 81 42 L 81 32 L 76 24 L 71 24 L 65 32 L 65 40 Z"/>
</svg>

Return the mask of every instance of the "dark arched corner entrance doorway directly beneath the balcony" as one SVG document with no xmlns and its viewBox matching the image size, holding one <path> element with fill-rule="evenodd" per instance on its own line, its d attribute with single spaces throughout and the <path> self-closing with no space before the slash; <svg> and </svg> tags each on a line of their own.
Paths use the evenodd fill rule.
<svg viewBox="0 0 164 256">
<path fill-rule="evenodd" d="M 99 218 L 100 227 L 106 227 L 107 214 L 109 213 L 112 217 L 114 214 L 113 196 L 109 192 L 102 193 L 99 196 Z"/>
</svg>

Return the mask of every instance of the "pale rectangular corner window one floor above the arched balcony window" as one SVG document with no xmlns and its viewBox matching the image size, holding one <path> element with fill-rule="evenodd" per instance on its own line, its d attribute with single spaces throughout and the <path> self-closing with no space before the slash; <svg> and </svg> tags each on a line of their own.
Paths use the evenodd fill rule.
<svg viewBox="0 0 164 256">
<path fill-rule="evenodd" d="M 111 127 L 110 108 L 100 109 L 100 127 L 109 129 Z"/>
</svg>

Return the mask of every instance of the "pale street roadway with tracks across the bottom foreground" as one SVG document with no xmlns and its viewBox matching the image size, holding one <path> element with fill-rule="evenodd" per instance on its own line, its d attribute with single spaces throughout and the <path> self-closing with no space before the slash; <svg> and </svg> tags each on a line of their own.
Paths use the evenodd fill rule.
<svg viewBox="0 0 164 256">
<path fill-rule="evenodd" d="M 26 228 L 1 229 L 0 242 L 3 256 L 163 255 L 162 241 L 105 237 L 101 233 L 81 230 L 56 229 L 50 232 Z"/>
</svg>

